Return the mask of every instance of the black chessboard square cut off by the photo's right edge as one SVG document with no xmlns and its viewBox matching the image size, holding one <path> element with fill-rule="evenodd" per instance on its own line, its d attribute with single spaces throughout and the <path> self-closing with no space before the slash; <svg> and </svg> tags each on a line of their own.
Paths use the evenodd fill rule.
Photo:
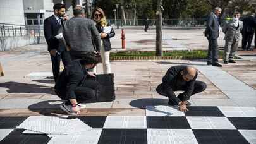
<svg viewBox="0 0 256 144">
<path fill-rule="evenodd" d="M 256 130 L 256 117 L 228 117 L 236 129 Z"/>
</svg>

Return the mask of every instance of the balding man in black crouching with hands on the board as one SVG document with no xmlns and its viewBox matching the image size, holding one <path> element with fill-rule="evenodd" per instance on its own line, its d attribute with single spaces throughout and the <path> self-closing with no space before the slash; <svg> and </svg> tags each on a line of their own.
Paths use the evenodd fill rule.
<svg viewBox="0 0 256 144">
<path fill-rule="evenodd" d="M 195 93 L 202 92 L 207 85 L 202 81 L 197 81 L 197 69 L 192 66 L 172 66 L 162 78 L 162 83 L 157 86 L 157 93 L 169 98 L 169 105 L 179 105 L 180 111 L 188 111 L 187 105 L 190 105 L 188 100 Z M 183 90 L 178 97 L 174 91 Z"/>
</svg>

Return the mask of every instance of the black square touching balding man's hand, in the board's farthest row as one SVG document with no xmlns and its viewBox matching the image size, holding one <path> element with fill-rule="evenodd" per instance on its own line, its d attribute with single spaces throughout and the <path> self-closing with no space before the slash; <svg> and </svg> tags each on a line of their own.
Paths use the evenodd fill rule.
<svg viewBox="0 0 256 144">
<path fill-rule="evenodd" d="M 188 107 L 189 111 L 185 112 L 185 116 L 218 116 L 224 117 L 224 114 L 218 107 Z"/>
</svg>

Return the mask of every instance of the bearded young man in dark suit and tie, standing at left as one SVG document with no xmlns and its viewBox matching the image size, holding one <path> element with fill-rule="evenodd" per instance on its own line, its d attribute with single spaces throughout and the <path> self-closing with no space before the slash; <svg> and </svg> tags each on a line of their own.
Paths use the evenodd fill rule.
<svg viewBox="0 0 256 144">
<path fill-rule="evenodd" d="M 54 4 L 54 14 L 44 20 L 44 37 L 48 45 L 48 51 L 51 55 L 52 73 L 56 81 L 59 75 L 60 61 L 64 66 L 70 63 L 70 56 L 63 43 L 55 37 L 58 35 L 59 28 L 63 26 L 61 17 L 65 14 L 66 8 L 63 4 Z"/>
</svg>

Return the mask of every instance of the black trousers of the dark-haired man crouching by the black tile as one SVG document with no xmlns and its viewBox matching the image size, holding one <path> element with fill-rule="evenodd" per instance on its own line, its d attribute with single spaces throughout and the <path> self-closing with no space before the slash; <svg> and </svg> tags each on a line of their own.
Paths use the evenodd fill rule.
<svg viewBox="0 0 256 144">
<path fill-rule="evenodd" d="M 96 102 L 100 88 L 101 84 L 98 81 L 94 80 L 94 78 L 85 80 L 85 83 L 83 83 L 83 85 L 75 89 L 76 101 L 78 102 L 78 104 Z M 68 100 L 68 98 L 66 97 L 66 89 L 55 90 L 55 92 L 61 99 Z M 66 102 L 66 105 L 71 105 L 70 100 Z"/>
</svg>

